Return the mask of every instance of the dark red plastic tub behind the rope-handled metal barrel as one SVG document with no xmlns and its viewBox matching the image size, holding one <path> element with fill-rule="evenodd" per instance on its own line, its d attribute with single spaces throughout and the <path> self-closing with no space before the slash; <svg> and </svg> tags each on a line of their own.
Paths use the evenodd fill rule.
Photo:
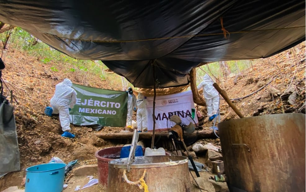
<svg viewBox="0 0 306 192">
<path fill-rule="evenodd" d="M 103 189 L 107 189 L 108 178 L 108 162 L 113 159 L 119 159 L 121 147 L 109 147 L 101 149 L 95 153 L 98 159 L 98 180 L 99 186 Z"/>
</svg>

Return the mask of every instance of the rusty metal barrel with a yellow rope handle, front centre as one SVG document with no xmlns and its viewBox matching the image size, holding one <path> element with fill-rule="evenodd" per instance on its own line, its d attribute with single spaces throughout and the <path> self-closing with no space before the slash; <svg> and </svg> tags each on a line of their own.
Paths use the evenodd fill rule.
<svg viewBox="0 0 306 192">
<path fill-rule="evenodd" d="M 135 162 L 130 165 L 130 172 L 126 171 L 125 161 L 126 158 L 122 158 L 109 162 L 108 192 L 144 191 L 140 187 L 145 185 L 150 192 L 190 191 L 187 157 L 175 155 L 135 157 Z"/>
</svg>

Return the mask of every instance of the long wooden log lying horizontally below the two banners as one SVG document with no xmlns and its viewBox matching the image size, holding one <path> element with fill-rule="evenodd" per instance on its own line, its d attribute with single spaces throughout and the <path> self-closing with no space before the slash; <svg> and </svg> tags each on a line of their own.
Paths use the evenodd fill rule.
<svg viewBox="0 0 306 192">
<path fill-rule="evenodd" d="M 218 131 L 216 131 L 218 133 Z M 184 137 L 196 137 L 196 132 L 184 133 Z M 133 137 L 133 132 L 119 132 L 119 133 L 96 133 L 97 137 L 102 139 L 131 139 Z M 168 138 L 168 133 L 155 132 L 155 138 Z M 139 139 L 151 139 L 153 136 L 152 132 L 139 133 Z M 198 139 L 203 138 L 216 138 L 212 130 L 201 130 L 198 132 Z"/>
</svg>

